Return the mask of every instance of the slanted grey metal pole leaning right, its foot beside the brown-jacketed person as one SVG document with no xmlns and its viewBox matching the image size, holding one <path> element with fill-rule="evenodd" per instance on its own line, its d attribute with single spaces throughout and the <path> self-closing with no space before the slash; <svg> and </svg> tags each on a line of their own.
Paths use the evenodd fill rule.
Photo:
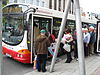
<svg viewBox="0 0 100 75">
<path fill-rule="evenodd" d="M 59 45 L 60 45 L 60 42 L 61 42 L 63 30 L 65 28 L 65 24 L 66 24 L 66 21 L 67 21 L 68 10 L 69 10 L 70 5 L 71 5 L 71 0 L 67 0 L 66 9 L 65 9 L 65 12 L 64 12 L 64 15 L 63 15 L 63 18 L 62 18 L 61 27 L 60 27 L 60 31 L 59 31 L 59 34 L 58 34 L 58 39 L 57 39 L 57 44 L 56 44 L 56 47 L 55 47 L 54 56 L 53 56 L 53 59 L 52 59 L 52 62 L 51 62 L 50 72 L 52 72 L 53 69 L 54 69 L 55 60 L 56 60 L 56 57 L 57 57 L 57 54 L 58 54 L 58 49 L 59 49 Z"/>
</svg>

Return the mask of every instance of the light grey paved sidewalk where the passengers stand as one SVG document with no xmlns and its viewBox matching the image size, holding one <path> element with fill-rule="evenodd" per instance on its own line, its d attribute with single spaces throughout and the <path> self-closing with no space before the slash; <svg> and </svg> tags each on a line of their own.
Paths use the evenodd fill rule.
<svg viewBox="0 0 100 75">
<path fill-rule="evenodd" d="M 47 72 L 32 72 L 24 75 L 79 75 L 79 64 L 78 61 L 73 60 L 71 63 L 64 63 L 65 60 L 55 64 L 54 72 L 50 73 L 50 65 L 47 66 Z M 90 56 L 85 58 L 86 75 L 100 75 L 100 56 Z"/>
</svg>

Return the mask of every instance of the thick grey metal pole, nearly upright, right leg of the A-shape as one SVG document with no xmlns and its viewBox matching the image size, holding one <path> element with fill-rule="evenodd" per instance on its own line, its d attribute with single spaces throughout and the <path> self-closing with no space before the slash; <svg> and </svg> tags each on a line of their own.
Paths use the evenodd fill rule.
<svg viewBox="0 0 100 75">
<path fill-rule="evenodd" d="M 78 44 L 77 45 L 78 59 L 79 59 L 79 69 L 80 69 L 79 75 L 86 75 L 79 0 L 74 0 L 74 2 L 75 2 L 75 15 L 76 15 L 75 17 L 76 17 L 76 31 L 77 31 L 77 44 Z"/>
</svg>

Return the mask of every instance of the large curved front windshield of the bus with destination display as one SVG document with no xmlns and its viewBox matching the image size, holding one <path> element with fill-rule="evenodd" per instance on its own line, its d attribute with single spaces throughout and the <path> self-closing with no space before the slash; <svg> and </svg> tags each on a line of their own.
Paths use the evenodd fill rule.
<svg viewBox="0 0 100 75">
<path fill-rule="evenodd" d="M 25 5 L 11 5 L 3 8 L 2 40 L 5 43 L 17 45 L 23 39 L 23 13 L 28 7 Z"/>
</svg>

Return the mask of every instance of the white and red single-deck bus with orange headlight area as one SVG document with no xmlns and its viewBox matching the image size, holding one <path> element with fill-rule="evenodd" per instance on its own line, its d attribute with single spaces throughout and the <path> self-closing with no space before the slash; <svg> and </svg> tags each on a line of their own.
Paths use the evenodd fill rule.
<svg viewBox="0 0 100 75">
<path fill-rule="evenodd" d="M 24 3 L 11 3 L 3 9 L 2 53 L 22 63 L 32 63 L 35 55 L 35 25 L 45 28 L 57 38 L 63 12 Z M 68 14 L 66 26 L 75 29 L 75 15 Z M 96 24 L 96 20 L 82 17 L 82 24 Z M 48 52 L 49 53 L 49 52 Z M 63 53 L 59 49 L 58 54 Z"/>
</svg>

